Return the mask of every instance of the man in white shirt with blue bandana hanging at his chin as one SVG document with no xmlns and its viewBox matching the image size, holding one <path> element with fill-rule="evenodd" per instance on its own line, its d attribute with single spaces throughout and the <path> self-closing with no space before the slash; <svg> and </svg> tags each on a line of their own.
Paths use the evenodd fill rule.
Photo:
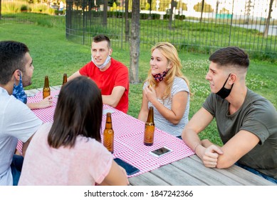
<svg viewBox="0 0 277 200">
<path fill-rule="evenodd" d="M 17 185 L 23 156 L 15 155 L 17 141 L 25 154 L 31 137 L 43 123 L 22 101 L 21 86 L 31 84 L 33 60 L 28 47 L 17 41 L 0 41 L 0 185 Z M 25 99 L 25 100 L 24 100 Z"/>
</svg>

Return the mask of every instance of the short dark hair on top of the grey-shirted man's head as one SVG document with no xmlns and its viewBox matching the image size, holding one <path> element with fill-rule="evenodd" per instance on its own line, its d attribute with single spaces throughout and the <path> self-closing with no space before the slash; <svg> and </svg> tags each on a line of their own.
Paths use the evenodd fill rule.
<svg viewBox="0 0 277 200">
<path fill-rule="evenodd" d="M 247 69 L 249 67 L 249 56 L 246 52 L 237 46 L 228 46 L 219 49 L 211 54 L 209 61 L 219 66 L 234 66 Z"/>
</svg>

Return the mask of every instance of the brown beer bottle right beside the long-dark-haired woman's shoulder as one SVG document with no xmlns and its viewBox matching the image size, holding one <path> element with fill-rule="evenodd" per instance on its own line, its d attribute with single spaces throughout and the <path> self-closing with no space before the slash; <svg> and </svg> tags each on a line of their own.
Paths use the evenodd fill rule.
<svg viewBox="0 0 277 200">
<path fill-rule="evenodd" d="M 114 132 L 112 126 L 112 114 L 107 113 L 106 126 L 104 130 L 104 146 L 113 154 L 113 140 L 114 140 Z"/>
</svg>

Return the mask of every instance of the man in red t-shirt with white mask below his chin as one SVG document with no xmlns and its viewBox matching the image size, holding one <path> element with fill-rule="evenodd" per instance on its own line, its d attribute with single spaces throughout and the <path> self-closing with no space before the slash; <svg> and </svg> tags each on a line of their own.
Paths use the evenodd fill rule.
<svg viewBox="0 0 277 200">
<path fill-rule="evenodd" d="M 90 77 L 101 90 L 103 104 L 127 113 L 128 69 L 120 61 L 110 57 L 112 52 L 108 36 L 95 36 L 91 45 L 91 61 L 72 74 L 68 81 L 81 75 Z"/>
</svg>

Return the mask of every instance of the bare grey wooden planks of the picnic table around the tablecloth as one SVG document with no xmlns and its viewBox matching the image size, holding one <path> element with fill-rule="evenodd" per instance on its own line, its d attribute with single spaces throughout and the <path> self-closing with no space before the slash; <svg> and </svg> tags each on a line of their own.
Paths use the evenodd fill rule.
<svg viewBox="0 0 277 200">
<path fill-rule="evenodd" d="M 59 89 L 61 86 L 51 87 L 51 91 Z M 26 94 L 36 94 L 38 91 L 42 91 L 42 88 L 27 90 Z M 276 186 L 271 181 L 236 165 L 228 169 L 207 168 L 196 154 L 130 177 L 129 181 L 133 186 Z"/>
</svg>

